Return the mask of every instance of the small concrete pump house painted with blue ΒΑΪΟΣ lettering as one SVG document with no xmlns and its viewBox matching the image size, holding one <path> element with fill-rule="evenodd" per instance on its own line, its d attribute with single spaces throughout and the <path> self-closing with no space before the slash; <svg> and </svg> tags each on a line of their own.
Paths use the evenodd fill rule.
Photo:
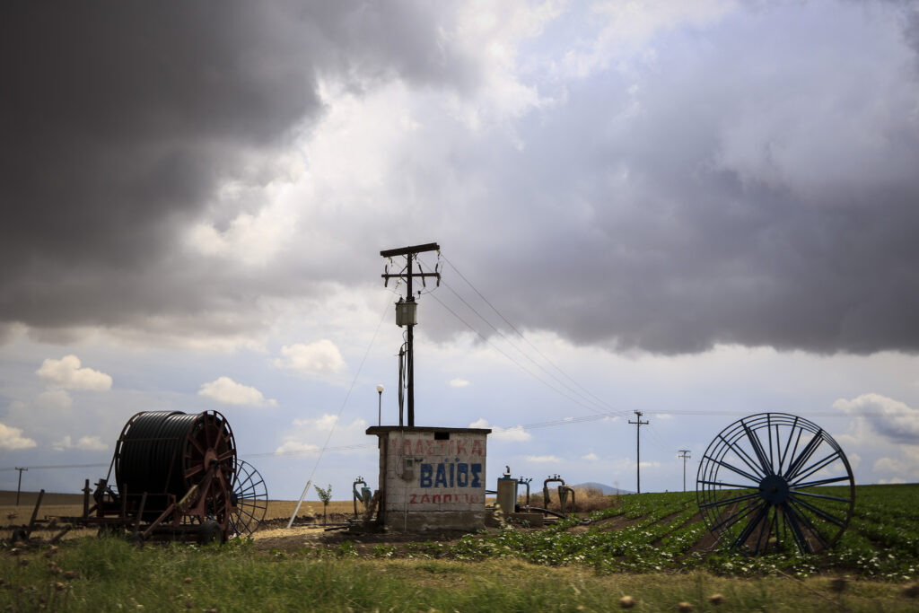
<svg viewBox="0 0 919 613">
<path fill-rule="evenodd" d="M 402 531 L 485 525 L 486 428 L 372 426 L 379 437 L 380 522 Z"/>
</svg>

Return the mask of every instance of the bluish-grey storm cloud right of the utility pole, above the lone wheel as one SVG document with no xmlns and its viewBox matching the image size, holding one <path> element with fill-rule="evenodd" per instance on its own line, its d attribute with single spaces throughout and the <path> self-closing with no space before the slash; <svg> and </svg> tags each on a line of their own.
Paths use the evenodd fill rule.
<svg viewBox="0 0 919 613">
<path fill-rule="evenodd" d="M 899 11 L 780 6 L 653 41 L 652 65 L 534 117 L 523 153 L 470 153 L 494 154 L 494 199 L 474 239 L 441 244 L 511 321 L 579 344 L 919 350 L 919 71 Z"/>
</svg>

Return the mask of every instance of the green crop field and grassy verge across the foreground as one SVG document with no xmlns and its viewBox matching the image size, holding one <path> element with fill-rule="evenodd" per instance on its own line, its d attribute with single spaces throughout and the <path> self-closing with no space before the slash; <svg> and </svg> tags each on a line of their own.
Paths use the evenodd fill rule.
<svg viewBox="0 0 919 613">
<path fill-rule="evenodd" d="M 308 547 L 75 539 L 0 551 L 7 610 L 915 611 L 919 485 L 857 488 L 832 551 L 722 551 L 694 494 L 621 496 L 583 525 L 405 541 L 335 534 Z M 712 596 L 720 595 L 711 600 Z M 627 602 L 628 604 L 628 602 Z M 685 609 L 689 610 L 689 609 Z"/>
</svg>

